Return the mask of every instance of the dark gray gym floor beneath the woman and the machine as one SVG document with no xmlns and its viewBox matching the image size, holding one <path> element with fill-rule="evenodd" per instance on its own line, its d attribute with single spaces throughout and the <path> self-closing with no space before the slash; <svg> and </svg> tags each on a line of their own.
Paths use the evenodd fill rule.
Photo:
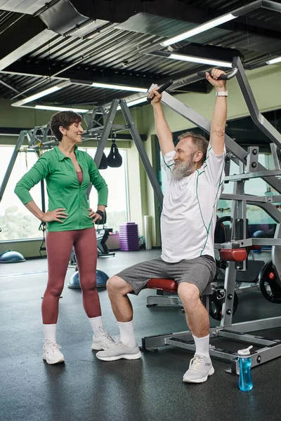
<svg viewBox="0 0 281 421">
<path fill-rule="evenodd" d="M 256 258 L 269 260 L 270 253 Z M 109 276 L 159 250 L 117 252 L 99 258 L 98 269 Z M 81 291 L 67 288 L 60 299 L 58 342 L 66 363 L 42 360 L 41 295 L 47 279 L 46 260 L 0 266 L 0 420 L 1 421 L 154 421 L 280 420 L 280 363 L 275 359 L 252 370 L 254 388 L 240 392 L 238 377 L 225 372 L 228 363 L 213 359 L 215 373 L 201 385 L 182 382 L 192 353 L 164 347 L 144 352 L 136 361 L 105 362 L 91 352 L 91 327 L 81 305 Z M 115 337 L 118 328 L 105 288 L 99 289 L 103 321 Z M 131 295 L 136 340 L 143 336 L 186 330 L 179 307 L 145 306 L 147 295 Z M 239 295 L 234 322 L 280 316 L 277 304 L 259 291 Z M 211 319 L 211 326 L 217 321 Z M 274 333 L 274 335 L 273 335 Z M 281 338 L 281 328 L 263 333 Z M 223 342 L 225 348 L 228 342 Z M 234 346 L 234 345 L 233 345 Z M 235 344 L 234 349 L 243 347 Z"/>
</svg>

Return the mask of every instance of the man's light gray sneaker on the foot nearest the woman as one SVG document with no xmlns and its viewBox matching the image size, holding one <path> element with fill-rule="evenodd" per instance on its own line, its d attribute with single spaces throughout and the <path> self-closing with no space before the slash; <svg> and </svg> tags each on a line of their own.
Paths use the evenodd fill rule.
<svg viewBox="0 0 281 421">
<path fill-rule="evenodd" d="M 97 352 L 98 359 L 103 361 L 115 361 L 117 359 L 139 359 L 141 358 L 141 351 L 138 345 L 133 347 L 126 347 L 123 342 L 114 342 L 107 345 L 104 351 Z"/>
</svg>

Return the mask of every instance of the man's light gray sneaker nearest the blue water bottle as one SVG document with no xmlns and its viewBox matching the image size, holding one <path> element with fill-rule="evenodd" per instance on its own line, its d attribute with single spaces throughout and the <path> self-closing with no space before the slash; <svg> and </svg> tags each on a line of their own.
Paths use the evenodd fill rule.
<svg viewBox="0 0 281 421">
<path fill-rule="evenodd" d="M 190 360 L 188 371 L 183 375 L 183 381 L 186 383 L 203 383 L 214 372 L 211 359 L 197 354 Z"/>
</svg>

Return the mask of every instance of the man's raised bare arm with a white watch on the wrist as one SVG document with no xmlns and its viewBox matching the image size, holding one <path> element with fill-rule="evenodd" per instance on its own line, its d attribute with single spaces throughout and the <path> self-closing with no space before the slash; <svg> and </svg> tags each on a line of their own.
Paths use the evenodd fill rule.
<svg viewBox="0 0 281 421">
<path fill-rule="evenodd" d="M 226 131 L 226 81 L 218 79 L 222 70 L 213 69 L 211 75 L 207 72 L 206 78 L 216 88 L 216 104 L 214 107 L 213 118 L 211 119 L 210 146 L 216 155 L 223 154 L 224 136 Z M 211 77 L 212 76 L 212 77 Z"/>
</svg>

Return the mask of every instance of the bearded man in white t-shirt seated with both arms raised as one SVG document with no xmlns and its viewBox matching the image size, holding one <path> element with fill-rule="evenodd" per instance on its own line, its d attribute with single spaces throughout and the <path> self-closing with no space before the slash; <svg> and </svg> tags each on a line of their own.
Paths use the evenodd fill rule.
<svg viewBox="0 0 281 421">
<path fill-rule="evenodd" d="M 185 309 L 186 321 L 195 340 L 184 382 L 205 382 L 214 368 L 209 356 L 209 315 L 200 300 L 214 279 L 214 229 L 216 205 L 224 176 L 226 127 L 226 81 L 213 69 L 206 74 L 216 88 L 216 104 L 210 140 L 192 132 L 183 133 L 174 147 L 173 137 L 161 106 L 161 95 L 150 93 L 156 132 L 168 177 L 161 215 L 162 255 L 119 272 L 107 281 L 107 291 L 120 330 L 119 342 L 98 352 L 98 359 L 139 359 L 141 352 L 133 333 L 133 309 L 128 293 L 138 294 L 150 278 L 174 279 Z"/>
</svg>

